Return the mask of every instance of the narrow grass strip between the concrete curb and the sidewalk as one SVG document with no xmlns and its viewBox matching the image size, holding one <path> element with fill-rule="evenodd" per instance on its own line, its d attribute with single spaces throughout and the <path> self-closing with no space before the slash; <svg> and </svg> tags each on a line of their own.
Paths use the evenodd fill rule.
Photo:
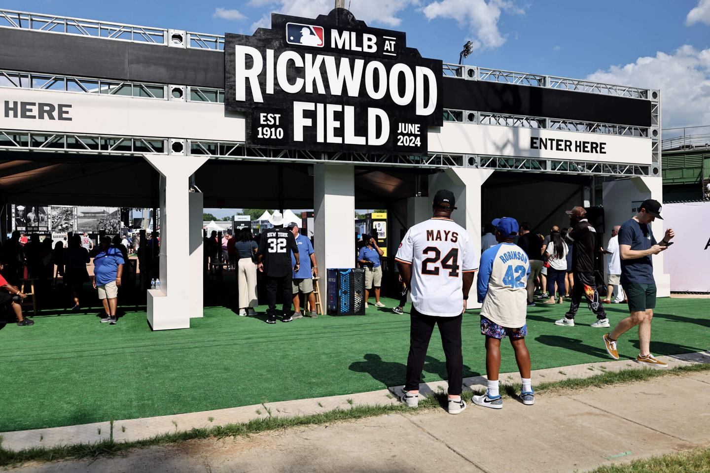
<svg viewBox="0 0 710 473">
<path fill-rule="evenodd" d="M 537 384 L 537 386 L 535 386 L 535 392 L 536 394 L 540 394 L 541 392 L 551 394 L 565 390 L 584 389 L 589 386 L 601 387 L 608 386 L 611 384 L 640 382 L 667 375 L 679 376 L 682 374 L 704 372 L 708 370 L 710 370 L 710 364 L 688 365 L 684 367 L 664 370 L 628 369 L 618 372 L 603 372 L 602 374 L 597 374 L 595 376 L 585 379 L 564 379 L 558 382 L 547 382 Z M 503 384 L 501 387 L 503 391 L 505 391 L 506 394 L 508 394 L 509 396 L 514 397 L 517 395 L 517 393 L 515 392 L 515 386 Z M 474 394 L 482 394 L 482 392 L 483 391 L 481 390 L 466 391 L 461 394 L 461 397 L 464 399 L 464 401 L 471 401 L 471 396 L 474 396 Z M 130 450 L 132 448 L 145 448 L 151 447 L 152 445 L 179 443 L 184 442 L 185 440 L 193 440 L 200 438 L 223 438 L 230 436 L 244 436 L 261 433 L 266 430 L 277 430 L 288 427 L 295 427 L 297 425 L 318 425 L 337 421 L 351 421 L 371 416 L 381 416 L 383 414 L 389 413 L 415 413 L 417 411 L 422 411 L 431 408 L 446 408 L 447 404 L 447 394 L 444 391 L 434 393 L 432 396 L 428 396 L 426 399 L 420 399 L 418 409 L 412 409 L 403 404 L 384 406 L 351 406 L 351 408 L 347 410 L 342 408 L 336 408 L 333 411 L 311 414 L 309 416 L 269 416 L 267 418 L 256 418 L 247 423 L 215 425 L 214 427 L 210 428 L 192 428 L 190 430 L 185 430 L 181 432 L 178 432 L 177 423 L 173 421 L 173 425 L 175 425 L 175 432 L 156 435 L 153 438 L 145 440 L 134 440 L 131 442 L 124 443 L 116 443 L 113 440 L 104 440 L 102 442 L 92 444 L 62 445 L 58 447 L 49 448 L 32 447 L 18 451 L 4 450 L 2 448 L 2 437 L 0 436 L 0 467 L 14 466 L 17 464 L 21 464 L 22 462 L 29 461 L 48 462 L 50 460 L 59 460 L 62 458 L 80 459 L 87 457 L 97 457 L 97 455 L 114 455 L 119 452 L 125 452 L 126 450 Z M 261 413 L 261 411 L 259 411 L 258 409 L 257 412 Z M 618 470 L 618 473 L 627 473 L 627 471 L 628 473 L 656 473 L 656 470 L 644 469 Z M 698 471 L 704 470 L 659 469 L 657 470 L 657 473 L 690 473 Z M 617 473 L 617 471 L 595 470 L 594 473 Z"/>
</svg>

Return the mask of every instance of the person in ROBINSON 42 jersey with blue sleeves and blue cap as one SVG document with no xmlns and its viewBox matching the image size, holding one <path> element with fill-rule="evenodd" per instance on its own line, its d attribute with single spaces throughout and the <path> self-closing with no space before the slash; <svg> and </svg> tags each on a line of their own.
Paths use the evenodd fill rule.
<svg viewBox="0 0 710 473">
<path fill-rule="evenodd" d="M 500 409 L 503 398 L 498 392 L 498 372 L 501 369 L 501 340 L 510 338 L 515 351 L 523 389 L 520 401 L 532 405 L 535 394 L 530 386 L 530 353 L 525 346 L 528 325 L 525 316 L 528 309 L 528 276 L 530 260 L 523 248 L 513 243 L 518 235 L 515 218 L 503 217 L 493 221 L 496 226 L 498 245 L 488 248 L 481 255 L 481 269 L 476 284 L 481 307 L 481 335 L 486 335 L 486 394 L 474 396 L 472 401 L 479 406 Z"/>
</svg>

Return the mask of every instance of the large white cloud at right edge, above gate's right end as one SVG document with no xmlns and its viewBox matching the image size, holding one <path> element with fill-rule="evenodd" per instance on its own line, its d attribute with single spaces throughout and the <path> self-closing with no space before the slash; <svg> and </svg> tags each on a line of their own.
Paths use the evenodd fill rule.
<svg viewBox="0 0 710 473">
<path fill-rule="evenodd" d="M 683 45 L 672 54 L 639 57 L 623 66 L 596 71 L 587 79 L 648 89 L 661 89 L 662 126 L 710 123 L 710 48 Z"/>
</svg>

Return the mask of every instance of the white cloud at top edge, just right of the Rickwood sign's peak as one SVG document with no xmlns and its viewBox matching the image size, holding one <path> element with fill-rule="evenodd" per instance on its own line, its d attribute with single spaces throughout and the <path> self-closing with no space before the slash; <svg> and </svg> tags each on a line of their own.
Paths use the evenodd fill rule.
<svg viewBox="0 0 710 473">
<path fill-rule="evenodd" d="M 461 28 L 468 28 L 476 35 L 474 49 L 499 48 L 506 38 L 498 30 L 501 13 L 524 14 L 524 9 L 507 0 L 441 0 L 434 1 L 422 9 L 428 19 L 452 18 Z"/>
</svg>

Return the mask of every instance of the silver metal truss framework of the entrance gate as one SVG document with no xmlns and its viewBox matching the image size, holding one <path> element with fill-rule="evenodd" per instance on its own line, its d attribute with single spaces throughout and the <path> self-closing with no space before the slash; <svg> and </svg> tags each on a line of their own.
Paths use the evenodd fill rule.
<svg viewBox="0 0 710 473">
<path fill-rule="evenodd" d="M 156 46 L 224 51 L 224 35 L 194 33 L 185 30 L 151 28 L 107 21 L 95 21 L 67 16 L 45 15 L 0 9 L 0 28 L 17 28 L 43 33 L 80 35 L 107 40 L 132 41 Z M 511 116 L 466 110 L 444 110 L 444 120 L 460 123 L 545 128 L 584 133 L 634 136 L 652 140 L 652 165 L 605 164 L 541 160 L 520 157 L 477 157 L 470 155 L 432 154 L 424 157 L 407 155 L 368 155 L 358 153 L 319 153 L 294 150 L 249 148 L 244 143 L 209 142 L 175 138 L 126 137 L 70 133 L 35 133 L 0 130 L 0 150 L 39 152 L 72 152 L 108 155 L 139 155 L 146 153 L 175 155 L 209 155 L 214 159 L 269 160 L 291 162 L 342 162 L 350 164 L 408 167 L 485 167 L 528 172 L 562 172 L 599 176 L 660 175 L 660 92 L 652 89 L 603 84 L 589 80 L 568 79 L 541 74 L 513 72 L 468 65 L 443 65 L 444 77 L 464 80 L 501 82 L 528 87 L 548 87 L 648 99 L 652 102 L 650 128 L 621 126 L 612 123 L 591 123 L 535 116 Z M 122 80 L 73 77 L 18 71 L 0 71 L 0 87 L 19 87 L 49 91 L 108 94 L 142 99 L 199 101 L 214 104 L 224 102 L 224 89 L 190 87 L 179 84 L 153 84 Z M 651 174 L 651 170 L 653 174 Z"/>
</svg>

